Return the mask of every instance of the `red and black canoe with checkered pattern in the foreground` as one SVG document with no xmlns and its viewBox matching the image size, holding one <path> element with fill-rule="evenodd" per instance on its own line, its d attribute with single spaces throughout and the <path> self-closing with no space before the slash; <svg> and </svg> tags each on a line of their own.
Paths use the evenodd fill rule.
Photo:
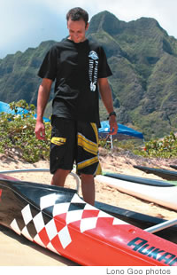
<svg viewBox="0 0 177 275">
<path fill-rule="evenodd" d="M 86 203 L 75 190 L 0 175 L 0 224 L 92 266 L 177 266 L 177 245 Z"/>
</svg>

